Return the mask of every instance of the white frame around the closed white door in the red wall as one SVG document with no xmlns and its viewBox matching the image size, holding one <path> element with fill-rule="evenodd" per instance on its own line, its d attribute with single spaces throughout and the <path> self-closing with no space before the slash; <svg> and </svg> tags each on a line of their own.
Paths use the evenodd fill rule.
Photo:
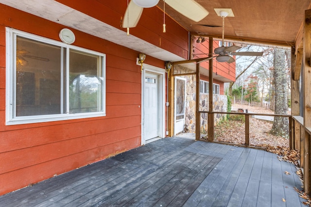
<svg viewBox="0 0 311 207">
<path fill-rule="evenodd" d="M 140 64 L 139 64 L 140 65 Z M 144 126 L 144 88 L 145 88 L 145 74 L 146 72 L 154 73 L 159 76 L 158 83 L 158 110 L 159 110 L 159 137 L 165 137 L 165 69 L 155 67 L 149 64 L 143 64 L 141 72 L 141 145 L 146 144 L 145 140 L 145 126 Z"/>
</svg>

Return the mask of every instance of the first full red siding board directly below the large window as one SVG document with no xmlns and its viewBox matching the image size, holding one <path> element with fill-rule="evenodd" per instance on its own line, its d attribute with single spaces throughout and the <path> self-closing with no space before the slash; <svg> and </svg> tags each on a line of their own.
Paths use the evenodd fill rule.
<svg viewBox="0 0 311 207">
<path fill-rule="evenodd" d="M 116 107 L 115 109 L 120 108 Z M 119 133 L 118 131 L 123 128 L 130 130 L 131 127 L 140 127 L 141 116 L 138 114 L 110 119 L 76 121 L 79 122 L 0 132 L 0 153 L 25 148 L 30 149 L 38 145 L 62 142 L 105 132 L 115 131 L 115 133 Z M 119 139 L 123 138 L 116 137 L 116 141 Z"/>
</svg>

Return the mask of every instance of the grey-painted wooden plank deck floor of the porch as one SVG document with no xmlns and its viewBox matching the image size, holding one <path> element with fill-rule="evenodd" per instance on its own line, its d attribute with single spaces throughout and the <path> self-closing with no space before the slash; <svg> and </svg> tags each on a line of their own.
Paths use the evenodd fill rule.
<svg viewBox="0 0 311 207">
<path fill-rule="evenodd" d="M 0 206 L 305 207 L 295 171 L 263 150 L 166 138 L 0 196 Z"/>
</svg>

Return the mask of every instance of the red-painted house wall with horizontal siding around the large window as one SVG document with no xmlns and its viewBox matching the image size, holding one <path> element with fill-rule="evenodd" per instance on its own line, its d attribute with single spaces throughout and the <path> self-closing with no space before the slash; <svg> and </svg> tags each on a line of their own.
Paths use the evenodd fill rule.
<svg viewBox="0 0 311 207">
<path fill-rule="evenodd" d="M 116 5 L 121 0 L 58 1 L 114 26 L 120 24 L 120 14 L 123 15 L 125 9 Z M 90 6 L 92 3 L 96 5 Z M 150 11 L 149 16 L 160 14 L 158 9 Z M 3 4 L 0 4 L 0 14 L 0 195 L 140 145 L 141 72 L 136 64 L 139 52 L 74 29 L 76 42 L 73 45 L 106 54 L 106 116 L 5 126 L 5 27 L 59 41 L 58 32 L 64 26 Z M 115 22 L 116 16 L 119 16 L 119 23 Z M 171 32 L 174 35 L 150 38 L 155 36 L 155 31 L 148 31 L 152 28 L 149 21 L 153 19 L 138 25 L 139 29 L 144 29 L 141 34 L 138 29 L 131 29 L 131 32 L 146 35 L 156 46 L 161 39 L 162 48 L 188 57 L 187 31 L 168 18 L 171 21 L 168 25 L 175 28 Z M 145 63 L 164 67 L 163 61 L 150 56 Z"/>
</svg>

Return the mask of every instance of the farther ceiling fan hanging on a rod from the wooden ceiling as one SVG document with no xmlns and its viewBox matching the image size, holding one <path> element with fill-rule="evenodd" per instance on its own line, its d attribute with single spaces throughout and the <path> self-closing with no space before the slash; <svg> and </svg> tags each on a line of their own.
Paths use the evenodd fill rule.
<svg viewBox="0 0 311 207">
<path fill-rule="evenodd" d="M 224 33 L 225 33 L 225 17 L 228 16 L 228 13 L 225 11 L 220 12 L 220 16 L 223 18 L 223 36 L 222 36 L 222 47 L 215 48 L 214 53 L 216 56 L 210 57 L 206 60 L 210 60 L 212 58 L 216 57 L 216 60 L 218 62 L 227 62 L 227 63 L 233 63 L 235 62 L 234 58 L 231 55 L 240 55 L 240 56 L 261 56 L 263 52 L 235 52 L 238 49 L 241 49 L 240 46 L 230 46 L 226 47 L 224 45 Z"/>
</svg>

